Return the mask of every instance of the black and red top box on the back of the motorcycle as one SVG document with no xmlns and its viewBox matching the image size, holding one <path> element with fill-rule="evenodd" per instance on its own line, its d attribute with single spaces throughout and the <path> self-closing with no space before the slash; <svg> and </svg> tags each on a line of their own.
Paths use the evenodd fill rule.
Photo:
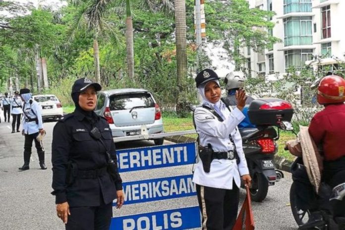
<svg viewBox="0 0 345 230">
<path fill-rule="evenodd" d="M 279 98 L 261 98 L 250 103 L 248 116 L 255 125 L 279 126 L 281 121 L 291 121 L 293 108 L 290 103 Z"/>
</svg>

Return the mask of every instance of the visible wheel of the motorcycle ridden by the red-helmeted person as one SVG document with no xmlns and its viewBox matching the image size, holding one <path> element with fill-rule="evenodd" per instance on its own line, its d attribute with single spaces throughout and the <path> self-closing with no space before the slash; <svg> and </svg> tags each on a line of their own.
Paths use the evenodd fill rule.
<svg viewBox="0 0 345 230">
<path fill-rule="evenodd" d="M 293 218 L 297 225 L 303 225 L 308 222 L 310 211 L 309 210 L 301 210 L 297 208 L 297 186 L 296 183 L 292 182 L 291 188 L 290 188 L 290 206 L 291 206 L 291 212 L 293 215 Z"/>
</svg>

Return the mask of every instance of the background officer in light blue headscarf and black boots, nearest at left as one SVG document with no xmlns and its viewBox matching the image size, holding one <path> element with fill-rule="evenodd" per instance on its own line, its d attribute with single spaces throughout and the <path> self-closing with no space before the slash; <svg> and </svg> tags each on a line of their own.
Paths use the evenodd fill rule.
<svg viewBox="0 0 345 230">
<path fill-rule="evenodd" d="M 32 141 L 35 141 L 38 159 L 42 170 L 46 170 L 44 161 L 44 149 L 42 141 L 36 138 L 39 134 L 44 135 L 46 132 L 43 129 L 43 121 L 41 115 L 41 106 L 32 99 L 32 94 L 29 89 L 20 89 L 20 97 L 24 102 L 23 106 L 23 130 L 22 135 L 25 136 L 24 142 L 24 165 L 19 170 L 28 170 L 31 156 Z"/>
</svg>

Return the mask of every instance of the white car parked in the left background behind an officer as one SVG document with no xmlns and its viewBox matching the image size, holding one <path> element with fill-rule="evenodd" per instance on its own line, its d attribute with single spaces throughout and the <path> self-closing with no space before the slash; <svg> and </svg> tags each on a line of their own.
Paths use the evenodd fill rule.
<svg viewBox="0 0 345 230">
<path fill-rule="evenodd" d="M 42 118 L 58 118 L 63 115 L 62 105 L 53 94 L 34 95 L 32 98 L 42 107 Z"/>
</svg>

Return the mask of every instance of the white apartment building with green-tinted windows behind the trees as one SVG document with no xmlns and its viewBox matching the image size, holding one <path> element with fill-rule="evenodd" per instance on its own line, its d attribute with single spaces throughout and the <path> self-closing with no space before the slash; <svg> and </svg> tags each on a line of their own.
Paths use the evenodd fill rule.
<svg viewBox="0 0 345 230">
<path fill-rule="evenodd" d="M 284 74 L 289 66 L 311 63 L 317 69 L 316 56 L 324 55 L 321 65 L 337 68 L 345 61 L 345 0 L 248 0 L 250 7 L 276 12 L 274 44 L 262 54 L 243 49 L 250 75 Z"/>
</svg>

